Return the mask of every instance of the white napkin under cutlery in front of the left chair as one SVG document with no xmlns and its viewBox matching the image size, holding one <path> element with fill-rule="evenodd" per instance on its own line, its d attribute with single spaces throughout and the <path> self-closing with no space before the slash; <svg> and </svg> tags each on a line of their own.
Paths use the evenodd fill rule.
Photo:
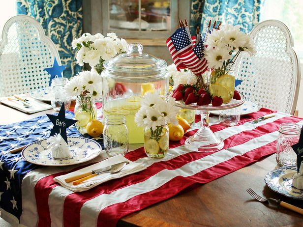
<svg viewBox="0 0 303 227">
<path fill-rule="evenodd" d="M 9 107 L 15 108 L 15 109 L 17 109 L 19 111 L 22 111 L 22 112 L 25 112 L 27 114 L 33 114 L 33 113 L 36 113 L 36 112 L 52 109 L 51 105 L 49 105 L 47 103 L 44 103 L 44 102 L 41 102 L 39 100 L 36 100 L 34 98 L 30 98 L 26 94 L 21 94 L 21 95 L 18 95 L 18 96 L 20 96 L 21 98 L 24 98 L 24 99 L 28 99 L 29 100 L 28 102 L 31 104 L 31 106 L 30 107 L 25 107 L 25 106 L 23 106 L 21 101 L 15 101 L 15 100 L 8 100 L 7 99 L 7 98 L 16 99 L 14 96 L 3 97 L 3 98 L 1 98 L 0 102 L 9 106 Z"/>
</svg>

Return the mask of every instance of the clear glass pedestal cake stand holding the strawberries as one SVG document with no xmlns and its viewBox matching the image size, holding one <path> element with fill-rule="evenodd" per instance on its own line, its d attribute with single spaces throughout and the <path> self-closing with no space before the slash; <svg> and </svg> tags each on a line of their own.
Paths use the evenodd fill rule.
<svg viewBox="0 0 303 227">
<path fill-rule="evenodd" d="M 172 91 L 168 92 L 166 98 L 172 96 Z M 197 106 L 196 104 L 185 105 L 183 101 L 176 101 L 175 106 L 182 109 L 197 110 L 201 115 L 201 126 L 195 135 L 186 139 L 185 145 L 188 147 L 197 148 L 200 152 L 214 152 L 221 150 L 224 142 L 217 138 L 209 127 L 210 111 L 228 110 L 239 107 L 244 103 L 244 95 L 240 93 L 241 100 L 232 99 L 227 104 L 222 104 L 219 107 L 213 107 L 211 104 L 207 106 Z"/>
</svg>

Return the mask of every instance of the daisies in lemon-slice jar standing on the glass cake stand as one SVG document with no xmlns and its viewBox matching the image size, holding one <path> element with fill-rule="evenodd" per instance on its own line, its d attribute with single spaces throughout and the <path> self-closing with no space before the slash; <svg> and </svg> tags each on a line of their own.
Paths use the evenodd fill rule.
<svg viewBox="0 0 303 227">
<path fill-rule="evenodd" d="M 225 25 L 208 34 L 205 46 L 205 58 L 210 68 L 210 94 L 221 97 L 223 103 L 229 103 L 235 89 L 233 65 L 242 52 L 255 54 L 253 42 L 239 27 Z"/>
</svg>

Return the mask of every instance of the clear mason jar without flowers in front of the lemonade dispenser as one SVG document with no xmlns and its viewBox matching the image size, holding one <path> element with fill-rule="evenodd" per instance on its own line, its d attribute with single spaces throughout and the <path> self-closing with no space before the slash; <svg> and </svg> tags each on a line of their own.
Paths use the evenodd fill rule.
<svg viewBox="0 0 303 227">
<path fill-rule="evenodd" d="M 109 156 L 125 155 L 128 151 L 126 117 L 122 114 L 107 115 L 103 129 L 104 149 Z"/>
</svg>

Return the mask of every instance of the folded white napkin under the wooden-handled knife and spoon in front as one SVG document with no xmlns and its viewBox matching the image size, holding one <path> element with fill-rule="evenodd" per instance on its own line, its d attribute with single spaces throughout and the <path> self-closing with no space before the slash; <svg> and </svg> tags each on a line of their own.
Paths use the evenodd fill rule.
<svg viewBox="0 0 303 227">
<path fill-rule="evenodd" d="M 103 167 L 107 167 L 110 165 L 114 165 L 120 162 L 129 162 L 129 164 L 127 164 L 121 171 L 117 172 L 117 173 L 110 173 L 110 172 L 102 172 L 97 176 L 91 177 L 90 179 L 87 179 L 83 182 L 81 182 L 80 184 L 77 185 L 73 185 L 73 182 L 69 182 L 66 183 L 64 179 L 66 179 L 67 177 L 71 177 L 71 176 L 75 176 L 75 175 L 79 175 L 82 173 L 86 173 L 86 172 L 90 172 L 91 170 L 97 170 Z M 127 176 L 129 174 L 135 173 L 135 172 L 139 172 L 141 170 L 145 170 L 146 167 L 144 167 L 143 165 L 139 164 L 139 163 L 135 163 L 135 162 L 131 162 L 128 159 L 124 158 L 122 155 L 116 155 L 114 157 L 105 159 L 101 162 L 98 162 L 96 164 L 93 164 L 91 166 L 88 166 L 86 168 L 83 168 L 81 170 L 77 170 L 74 172 L 70 172 L 68 174 L 65 175 L 61 175 L 61 176 L 57 176 L 54 178 L 54 180 L 56 182 L 58 182 L 59 184 L 61 184 L 61 186 L 63 186 L 64 188 L 67 188 L 71 191 L 74 192 L 84 192 L 87 191 L 103 182 L 112 180 L 112 179 L 117 179 L 117 178 L 121 178 L 123 176 Z"/>
</svg>

